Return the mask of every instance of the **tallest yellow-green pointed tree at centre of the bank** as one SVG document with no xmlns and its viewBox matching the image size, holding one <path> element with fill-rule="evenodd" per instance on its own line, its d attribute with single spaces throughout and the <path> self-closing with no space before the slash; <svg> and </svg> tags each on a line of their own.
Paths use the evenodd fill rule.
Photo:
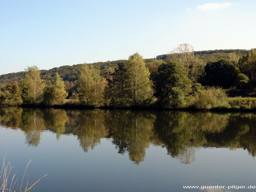
<svg viewBox="0 0 256 192">
<path fill-rule="evenodd" d="M 152 99 L 150 73 L 138 52 L 129 56 L 127 64 L 127 91 L 131 95 L 132 106 L 142 106 Z"/>
</svg>

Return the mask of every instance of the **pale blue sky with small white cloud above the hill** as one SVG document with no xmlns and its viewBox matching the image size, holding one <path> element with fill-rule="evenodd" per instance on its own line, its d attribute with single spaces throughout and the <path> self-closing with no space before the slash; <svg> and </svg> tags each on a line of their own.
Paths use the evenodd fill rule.
<svg viewBox="0 0 256 192">
<path fill-rule="evenodd" d="M 0 0 L 0 75 L 36 65 L 256 48 L 255 0 Z"/>
</svg>

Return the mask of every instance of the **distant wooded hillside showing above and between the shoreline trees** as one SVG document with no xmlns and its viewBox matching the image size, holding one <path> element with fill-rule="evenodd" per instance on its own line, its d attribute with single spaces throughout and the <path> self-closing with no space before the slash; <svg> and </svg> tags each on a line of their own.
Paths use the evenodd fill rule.
<svg viewBox="0 0 256 192">
<path fill-rule="evenodd" d="M 230 59 L 230 54 L 236 54 L 237 56 L 244 56 L 248 53 L 247 50 L 244 49 L 227 49 L 227 50 L 214 50 L 214 51 L 195 51 L 195 55 L 198 58 L 205 61 L 205 63 L 209 61 L 217 61 L 220 59 Z M 172 54 L 163 54 L 160 56 L 156 56 L 157 60 L 166 60 L 168 57 L 172 56 Z M 145 62 L 150 62 L 152 59 L 146 59 Z M 114 72 L 118 63 L 125 63 L 127 60 L 118 60 L 118 61 L 106 61 L 106 62 L 97 62 L 90 63 L 90 65 L 95 66 L 95 68 L 99 68 L 103 75 L 110 74 Z M 55 76 L 56 72 L 60 74 L 64 81 L 76 81 L 77 74 L 83 64 L 77 65 L 65 65 L 61 67 L 51 68 L 50 70 L 40 70 L 40 76 L 42 79 L 51 81 L 52 77 Z M 4 74 L 0 76 L 0 86 L 3 86 L 6 83 L 11 83 L 12 81 L 20 81 L 25 77 L 25 72 L 17 72 Z"/>
</svg>

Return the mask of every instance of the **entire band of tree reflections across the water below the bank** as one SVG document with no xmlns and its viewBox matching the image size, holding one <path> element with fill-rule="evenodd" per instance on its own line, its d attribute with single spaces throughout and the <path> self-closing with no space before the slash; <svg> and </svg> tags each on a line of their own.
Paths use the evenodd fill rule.
<svg viewBox="0 0 256 192">
<path fill-rule="evenodd" d="M 110 138 L 118 153 L 139 164 L 147 148 L 157 145 L 188 164 L 198 147 L 244 148 L 256 154 L 256 115 L 179 111 L 65 110 L 1 108 L 0 124 L 21 129 L 26 143 L 38 146 L 42 131 L 77 136 L 84 152 Z"/>
</svg>

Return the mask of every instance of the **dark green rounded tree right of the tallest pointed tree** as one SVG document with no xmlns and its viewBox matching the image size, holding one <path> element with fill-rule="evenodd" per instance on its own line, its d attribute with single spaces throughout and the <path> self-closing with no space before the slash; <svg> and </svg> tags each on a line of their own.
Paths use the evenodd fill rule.
<svg viewBox="0 0 256 192">
<path fill-rule="evenodd" d="M 178 108 L 189 93 L 191 80 L 184 66 L 168 61 L 158 68 L 154 86 L 157 103 L 161 108 Z"/>
</svg>

